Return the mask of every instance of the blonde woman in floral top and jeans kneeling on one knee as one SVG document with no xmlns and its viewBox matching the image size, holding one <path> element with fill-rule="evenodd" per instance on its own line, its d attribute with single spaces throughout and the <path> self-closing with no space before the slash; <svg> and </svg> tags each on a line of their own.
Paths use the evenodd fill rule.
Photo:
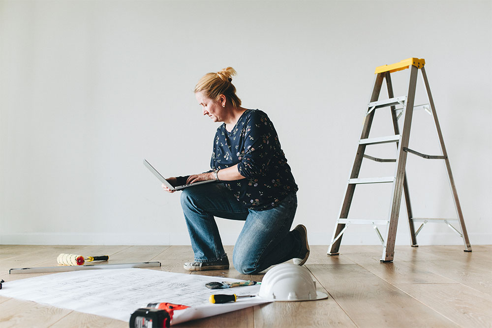
<svg viewBox="0 0 492 328">
<path fill-rule="evenodd" d="M 241 107 L 232 84 L 235 74 L 232 67 L 208 73 L 195 87 L 203 115 L 223 122 L 214 138 L 212 170 L 169 179 L 172 184 L 216 180 L 186 188 L 181 195 L 194 252 L 194 261 L 184 268 L 229 268 L 214 216 L 245 221 L 233 254 L 239 272 L 254 274 L 290 259 L 303 265 L 309 256 L 306 227 L 289 231 L 297 208 L 297 184 L 268 116 Z"/>
</svg>

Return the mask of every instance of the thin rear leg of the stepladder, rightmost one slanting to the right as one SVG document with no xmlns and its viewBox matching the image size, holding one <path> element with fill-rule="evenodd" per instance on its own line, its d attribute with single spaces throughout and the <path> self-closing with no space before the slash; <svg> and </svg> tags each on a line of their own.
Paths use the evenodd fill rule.
<svg viewBox="0 0 492 328">
<path fill-rule="evenodd" d="M 444 139 L 442 138 L 441 127 L 440 127 L 439 121 L 437 119 L 437 113 L 435 111 L 434 101 L 432 99 L 431 88 L 429 87 L 429 81 L 427 80 L 427 74 L 426 74 L 424 67 L 422 67 L 422 77 L 424 78 L 424 83 L 425 83 L 426 89 L 427 89 L 427 95 L 429 97 L 429 103 L 431 104 L 432 117 L 434 118 L 434 123 L 435 123 L 435 127 L 437 130 L 437 136 L 439 137 L 439 143 L 441 145 L 442 155 L 445 157 L 444 163 L 446 164 L 446 170 L 448 172 L 449 184 L 451 187 L 451 191 L 453 193 L 453 198 L 454 198 L 454 202 L 455 202 L 456 212 L 458 214 L 458 219 L 460 221 L 463 243 L 465 246 L 464 251 L 465 252 L 471 252 L 471 244 L 470 244 L 470 240 L 468 239 L 468 233 L 466 231 L 466 226 L 464 224 L 463 213 L 461 211 L 460 200 L 458 199 L 458 192 L 456 191 L 455 180 L 453 179 L 453 173 L 451 172 L 451 166 L 449 164 L 448 153 L 446 152 L 446 147 L 444 146 Z"/>
</svg>

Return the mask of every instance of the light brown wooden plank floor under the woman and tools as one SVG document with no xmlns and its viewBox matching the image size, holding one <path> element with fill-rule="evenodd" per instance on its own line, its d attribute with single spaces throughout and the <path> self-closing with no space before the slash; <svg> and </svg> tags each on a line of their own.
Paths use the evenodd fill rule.
<svg viewBox="0 0 492 328">
<path fill-rule="evenodd" d="M 380 263 L 381 246 L 311 246 L 306 267 L 328 299 L 273 302 L 175 327 L 492 327 L 492 246 L 397 246 L 394 263 Z M 232 254 L 232 246 L 226 247 Z M 9 268 L 56 265 L 60 253 L 108 254 L 110 263 L 159 261 L 162 270 L 190 273 L 190 246 L 0 245 L 0 279 Z M 197 274 L 261 280 L 234 268 Z M 0 291 L 1 295 L 1 291 Z M 0 296 L 0 327 L 128 327 L 128 323 Z"/>
</svg>

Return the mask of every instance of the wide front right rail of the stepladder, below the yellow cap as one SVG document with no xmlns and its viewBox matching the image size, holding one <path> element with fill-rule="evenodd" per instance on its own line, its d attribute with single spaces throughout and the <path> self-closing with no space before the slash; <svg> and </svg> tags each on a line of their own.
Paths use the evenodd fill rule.
<svg viewBox="0 0 492 328">
<path fill-rule="evenodd" d="M 403 180 L 405 179 L 406 151 L 403 148 L 408 147 L 410 139 L 410 127 L 412 124 L 413 104 L 415 100 L 415 87 L 417 84 L 418 68 L 411 66 L 410 68 L 410 84 L 408 86 L 408 96 L 405 104 L 405 116 L 403 121 L 403 131 L 401 134 L 401 142 L 398 146 L 398 157 L 396 162 L 395 181 L 392 188 L 392 204 L 388 214 L 389 223 L 386 226 L 386 240 L 383 246 L 383 255 L 381 262 L 393 261 L 395 255 L 395 240 L 398 227 L 398 216 L 400 214 L 401 191 L 403 189 Z"/>
</svg>

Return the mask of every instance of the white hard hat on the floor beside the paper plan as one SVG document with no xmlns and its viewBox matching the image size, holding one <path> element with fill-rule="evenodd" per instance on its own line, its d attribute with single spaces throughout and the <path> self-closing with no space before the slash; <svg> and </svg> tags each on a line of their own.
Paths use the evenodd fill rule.
<svg viewBox="0 0 492 328">
<path fill-rule="evenodd" d="M 316 292 L 316 283 L 305 267 L 285 263 L 271 268 L 261 281 L 259 297 L 275 301 L 298 301 L 328 298 Z"/>
</svg>

